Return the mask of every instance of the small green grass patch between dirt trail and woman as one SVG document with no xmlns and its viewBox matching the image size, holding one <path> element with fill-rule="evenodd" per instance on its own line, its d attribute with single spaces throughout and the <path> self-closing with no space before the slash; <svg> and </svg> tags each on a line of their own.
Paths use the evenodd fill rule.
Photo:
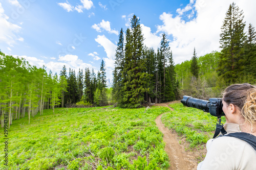
<svg viewBox="0 0 256 170">
<path fill-rule="evenodd" d="M 184 135 L 191 148 L 206 143 L 214 136 L 217 117 L 199 109 L 185 107 L 181 103 L 169 106 L 174 111 L 162 116 L 163 124 L 169 129 L 174 129 L 178 134 Z M 225 117 L 222 119 L 222 122 L 225 122 Z"/>
</svg>

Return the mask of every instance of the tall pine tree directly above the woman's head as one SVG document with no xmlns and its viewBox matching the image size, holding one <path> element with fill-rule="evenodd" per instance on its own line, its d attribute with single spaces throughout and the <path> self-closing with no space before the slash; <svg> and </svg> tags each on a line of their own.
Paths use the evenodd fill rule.
<svg viewBox="0 0 256 170">
<path fill-rule="evenodd" d="M 232 3 L 226 13 L 220 34 L 221 55 L 219 62 L 219 76 L 227 85 L 237 83 L 241 79 L 243 65 L 242 55 L 245 42 L 243 11 Z"/>
</svg>

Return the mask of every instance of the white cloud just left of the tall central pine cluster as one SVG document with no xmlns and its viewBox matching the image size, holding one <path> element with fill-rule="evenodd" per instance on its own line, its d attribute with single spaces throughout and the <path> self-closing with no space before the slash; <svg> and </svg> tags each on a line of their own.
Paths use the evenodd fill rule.
<svg viewBox="0 0 256 170">
<path fill-rule="evenodd" d="M 114 62 L 115 62 L 115 53 L 116 53 L 116 45 L 111 42 L 108 38 L 106 38 L 104 35 L 98 35 L 98 37 L 95 39 L 96 42 L 98 42 L 101 46 L 103 46 L 106 56 L 108 58 L 103 58 L 105 61 L 106 67 L 114 68 Z"/>
</svg>

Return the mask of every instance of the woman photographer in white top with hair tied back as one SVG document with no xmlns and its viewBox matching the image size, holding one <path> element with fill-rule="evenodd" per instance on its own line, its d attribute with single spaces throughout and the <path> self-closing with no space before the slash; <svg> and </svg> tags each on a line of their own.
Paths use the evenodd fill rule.
<svg viewBox="0 0 256 170">
<path fill-rule="evenodd" d="M 227 134 L 207 141 L 197 169 L 256 169 L 256 87 L 233 84 L 225 89 L 222 104 Z"/>
</svg>

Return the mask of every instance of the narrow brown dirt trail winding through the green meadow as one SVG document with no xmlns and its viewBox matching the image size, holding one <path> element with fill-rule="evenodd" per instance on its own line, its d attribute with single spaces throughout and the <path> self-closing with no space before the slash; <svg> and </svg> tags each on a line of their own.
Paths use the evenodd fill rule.
<svg viewBox="0 0 256 170">
<path fill-rule="evenodd" d="M 164 106 L 168 107 L 170 110 L 174 110 L 170 108 L 168 105 L 170 103 L 160 103 L 156 104 L 155 106 Z M 163 113 L 165 114 L 165 113 Z M 169 157 L 169 163 L 171 170 L 190 170 L 190 169 L 197 169 L 197 161 L 196 157 L 194 156 L 195 153 L 190 151 L 185 151 L 184 141 L 182 141 L 182 145 L 178 141 L 178 135 L 169 130 L 162 124 L 161 117 L 159 115 L 156 118 L 156 124 L 158 129 L 163 133 L 163 141 L 165 142 L 165 152 L 167 152 Z M 187 147 L 187 145 L 186 145 Z"/>
</svg>

